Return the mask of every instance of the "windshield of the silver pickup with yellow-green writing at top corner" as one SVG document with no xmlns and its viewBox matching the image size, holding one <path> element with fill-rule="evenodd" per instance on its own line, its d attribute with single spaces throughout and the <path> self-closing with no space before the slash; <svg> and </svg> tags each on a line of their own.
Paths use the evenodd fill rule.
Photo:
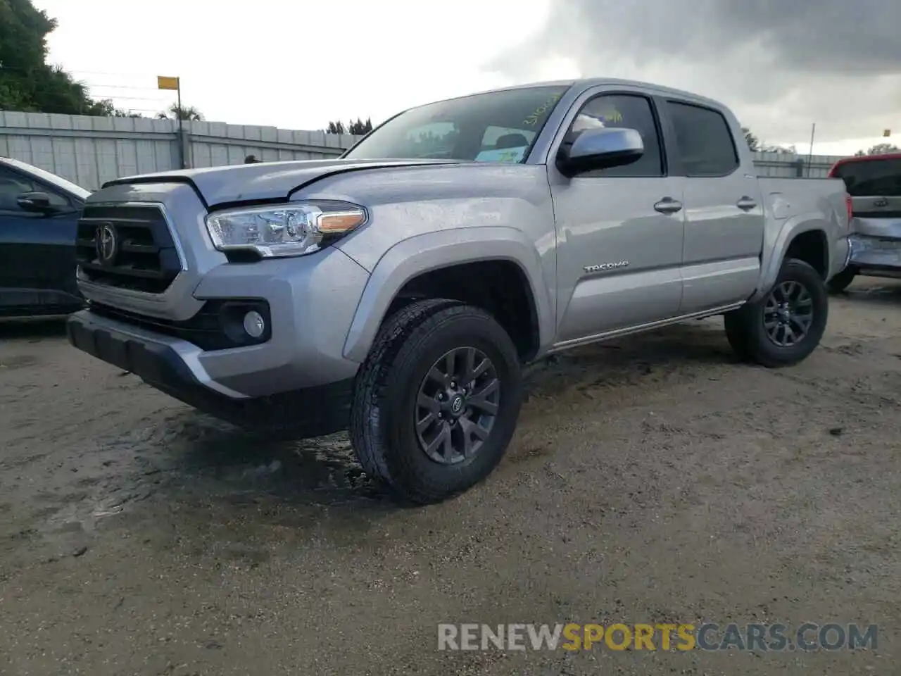
<svg viewBox="0 0 901 676">
<path fill-rule="evenodd" d="M 344 157 L 524 162 L 568 88 L 523 87 L 412 108 L 371 132 Z"/>
</svg>

